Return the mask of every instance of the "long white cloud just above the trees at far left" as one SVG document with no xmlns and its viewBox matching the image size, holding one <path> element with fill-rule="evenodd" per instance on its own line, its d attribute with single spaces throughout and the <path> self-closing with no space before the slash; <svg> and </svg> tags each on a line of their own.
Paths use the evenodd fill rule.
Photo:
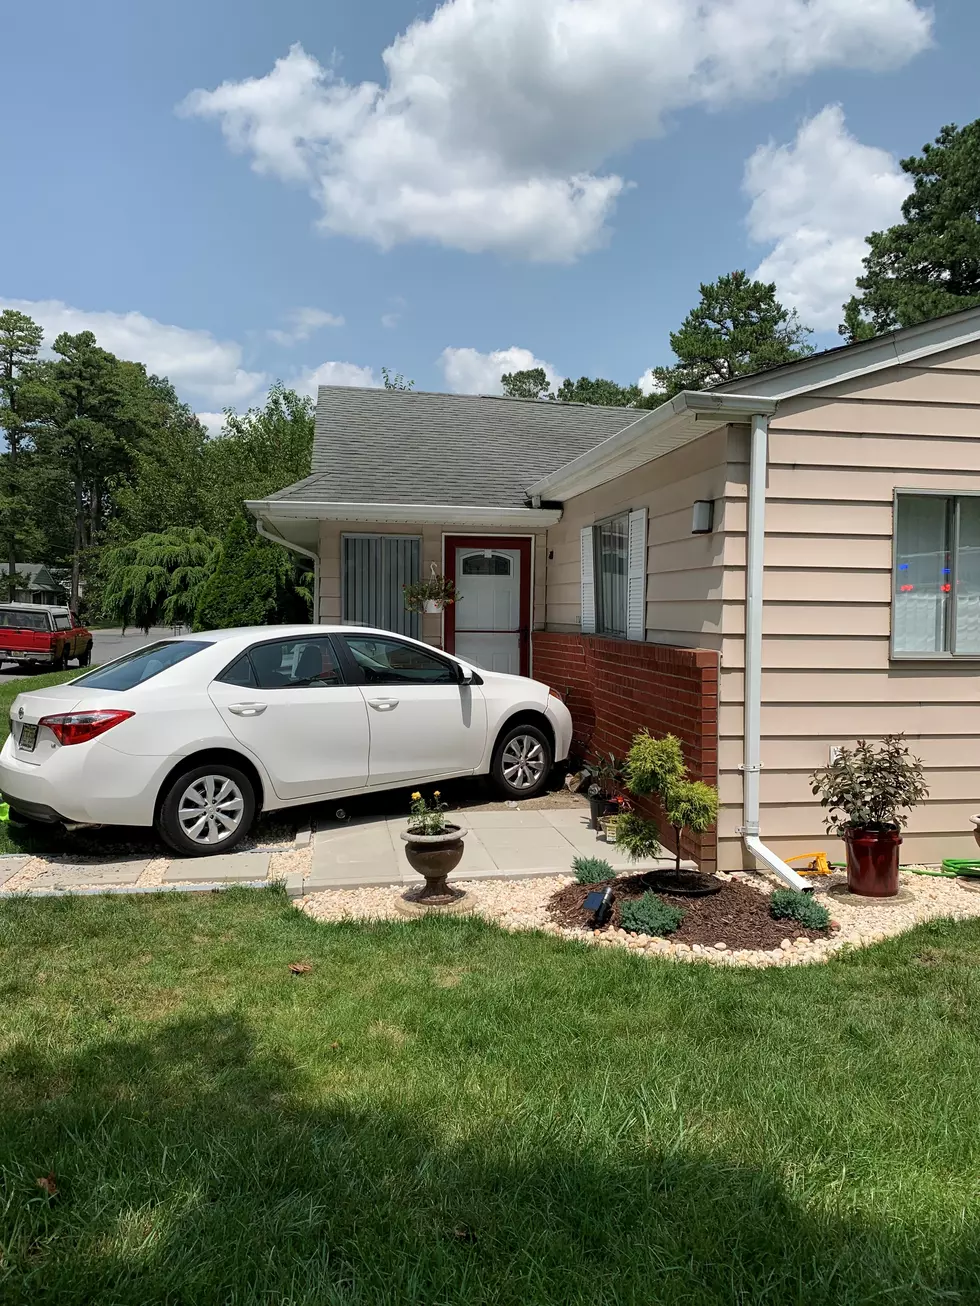
<svg viewBox="0 0 980 1306">
<path fill-rule="evenodd" d="M 265 372 L 242 367 L 240 345 L 206 330 L 169 326 L 137 312 L 90 312 L 57 299 L 0 299 L 0 308 L 17 308 L 39 323 L 48 347 L 60 332 L 90 330 L 102 349 L 145 363 L 149 372 L 170 377 L 182 394 L 216 406 L 248 402 L 269 383 Z"/>
</svg>

